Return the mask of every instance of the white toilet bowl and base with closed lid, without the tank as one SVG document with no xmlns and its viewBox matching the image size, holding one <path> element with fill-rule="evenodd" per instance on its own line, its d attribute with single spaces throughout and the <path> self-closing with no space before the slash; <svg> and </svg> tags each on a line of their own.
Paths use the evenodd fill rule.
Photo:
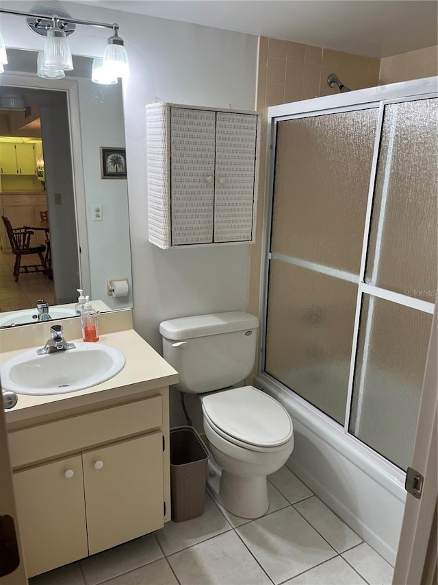
<svg viewBox="0 0 438 585">
<path fill-rule="evenodd" d="M 269 508 L 266 476 L 294 449 L 289 414 L 253 386 L 207 394 L 201 401 L 205 435 L 221 469 L 214 496 L 235 516 L 263 516 Z"/>
</svg>

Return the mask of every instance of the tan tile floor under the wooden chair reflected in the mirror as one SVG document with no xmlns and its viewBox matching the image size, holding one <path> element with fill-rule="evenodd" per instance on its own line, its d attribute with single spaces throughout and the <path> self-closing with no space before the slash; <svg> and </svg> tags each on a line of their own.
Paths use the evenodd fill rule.
<svg viewBox="0 0 438 585">
<path fill-rule="evenodd" d="M 40 298 L 53 305 L 55 288 L 53 280 L 49 280 L 42 272 L 20 274 L 18 283 L 14 280 L 15 256 L 12 252 L 0 252 L 0 311 L 18 311 L 32 309 Z M 33 259 L 22 257 L 23 265 L 34 263 Z"/>
</svg>

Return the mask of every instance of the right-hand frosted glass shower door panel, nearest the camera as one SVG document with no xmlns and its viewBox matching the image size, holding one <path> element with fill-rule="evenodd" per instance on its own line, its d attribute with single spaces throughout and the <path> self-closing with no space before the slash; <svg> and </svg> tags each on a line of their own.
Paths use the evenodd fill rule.
<svg viewBox="0 0 438 585">
<path fill-rule="evenodd" d="M 404 470 L 437 294 L 437 102 L 385 106 L 352 387 L 350 433 Z"/>
</svg>

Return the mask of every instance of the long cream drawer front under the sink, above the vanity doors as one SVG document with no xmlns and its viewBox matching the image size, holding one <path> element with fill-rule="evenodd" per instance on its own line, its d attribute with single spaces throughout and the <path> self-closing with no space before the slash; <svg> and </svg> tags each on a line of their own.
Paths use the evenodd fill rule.
<svg viewBox="0 0 438 585">
<path fill-rule="evenodd" d="M 8 434 L 12 468 L 161 427 L 162 397 L 62 418 Z"/>
</svg>

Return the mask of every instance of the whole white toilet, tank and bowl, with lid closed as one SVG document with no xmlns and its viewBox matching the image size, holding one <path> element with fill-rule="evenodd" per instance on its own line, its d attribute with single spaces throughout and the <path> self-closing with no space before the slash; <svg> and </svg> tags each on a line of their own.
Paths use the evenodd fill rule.
<svg viewBox="0 0 438 585">
<path fill-rule="evenodd" d="M 292 420 L 281 404 L 253 386 L 230 388 L 253 368 L 258 326 L 254 315 L 242 311 L 159 326 L 164 359 L 179 372 L 177 389 L 202 395 L 204 430 L 215 459 L 209 463 L 209 487 L 226 510 L 242 518 L 268 511 L 266 476 L 294 449 Z"/>
</svg>

